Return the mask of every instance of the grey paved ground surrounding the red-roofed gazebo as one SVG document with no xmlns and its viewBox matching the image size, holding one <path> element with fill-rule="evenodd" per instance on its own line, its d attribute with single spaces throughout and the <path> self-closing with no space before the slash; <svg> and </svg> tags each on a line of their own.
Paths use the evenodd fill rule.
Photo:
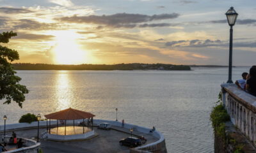
<svg viewBox="0 0 256 153">
<path fill-rule="evenodd" d="M 83 153 L 102 153 L 102 152 L 129 152 L 129 147 L 125 147 L 119 144 L 121 138 L 126 138 L 131 136 L 129 134 L 129 129 L 119 128 L 112 126 L 111 130 L 97 129 L 95 133 L 97 136 L 83 141 L 74 141 L 74 142 L 53 142 L 49 140 L 40 140 L 41 148 L 44 153 L 48 152 L 83 152 Z M 40 128 L 40 133 L 46 131 L 45 128 Z M 24 138 L 36 138 L 37 129 L 28 129 L 22 131 L 15 131 L 18 137 Z M 152 134 L 140 133 L 138 131 L 133 131 L 134 135 L 143 135 L 147 138 L 147 143 L 156 142 L 157 138 L 154 138 Z M 12 135 L 11 132 L 8 132 L 7 135 Z"/>
</svg>

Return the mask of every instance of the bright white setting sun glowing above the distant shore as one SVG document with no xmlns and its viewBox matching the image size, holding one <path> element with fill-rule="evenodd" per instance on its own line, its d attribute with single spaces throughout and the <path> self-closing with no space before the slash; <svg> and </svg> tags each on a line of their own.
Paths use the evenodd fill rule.
<svg viewBox="0 0 256 153">
<path fill-rule="evenodd" d="M 54 31 L 56 45 L 52 48 L 55 64 L 83 64 L 88 61 L 88 52 L 77 43 L 75 31 Z"/>
</svg>

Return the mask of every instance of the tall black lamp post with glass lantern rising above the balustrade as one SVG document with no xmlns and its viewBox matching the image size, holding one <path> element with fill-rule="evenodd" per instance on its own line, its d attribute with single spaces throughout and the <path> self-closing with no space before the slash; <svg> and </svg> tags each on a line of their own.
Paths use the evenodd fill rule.
<svg viewBox="0 0 256 153">
<path fill-rule="evenodd" d="M 232 82 L 233 25 L 236 24 L 236 18 L 238 16 L 238 13 L 236 13 L 234 8 L 231 7 L 225 15 L 227 15 L 228 25 L 230 25 L 229 62 L 228 62 L 228 81 L 227 81 L 227 83 L 233 83 Z"/>
</svg>

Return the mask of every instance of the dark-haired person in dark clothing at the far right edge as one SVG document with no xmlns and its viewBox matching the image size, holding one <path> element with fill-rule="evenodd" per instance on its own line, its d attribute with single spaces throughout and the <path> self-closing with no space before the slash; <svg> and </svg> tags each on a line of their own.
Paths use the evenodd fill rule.
<svg viewBox="0 0 256 153">
<path fill-rule="evenodd" d="M 246 79 L 246 91 L 256 96 L 256 66 L 250 68 L 250 73 Z"/>
</svg>

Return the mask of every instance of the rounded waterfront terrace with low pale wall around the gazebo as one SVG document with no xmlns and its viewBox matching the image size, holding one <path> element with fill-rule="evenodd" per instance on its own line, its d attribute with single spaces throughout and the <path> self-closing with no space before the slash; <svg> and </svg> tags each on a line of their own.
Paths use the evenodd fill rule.
<svg viewBox="0 0 256 153">
<path fill-rule="evenodd" d="M 79 120 L 80 122 L 82 120 Z M 68 120 L 67 124 L 72 126 L 73 120 Z M 25 146 L 22 149 L 11 150 L 10 152 L 37 152 L 39 147 L 43 152 L 154 152 L 154 153 L 166 153 L 166 146 L 164 136 L 158 131 L 150 133 L 149 128 L 144 128 L 141 126 L 136 126 L 133 124 L 125 123 L 124 128 L 120 128 L 122 122 L 112 121 L 112 120 L 99 120 L 95 119 L 93 126 L 97 126 L 100 122 L 108 122 L 112 125 L 111 130 L 106 131 L 103 129 L 93 128 L 97 135 L 86 140 L 68 141 L 68 142 L 55 142 L 48 141 L 44 137 L 46 131 L 46 121 L 40 121 L 40 141 L 35 142 L 31 146 Z M 19 123 L 19 124 L 7 124 L 6 125 L 6 135 L 12 135 L 12 131 L 17 133 L 20 138 L 27 138 L 33 141 L 36 138 L 37 122 Z M 52 120 L 51 127 L 56 127 L 56 120 Z M 131 136 L 129 129 L 133 128 L 132 136 L 145 136 L 147 142 L 140 147 L 129 148 L 119 144 L 120 138 L 125 138 Z M 0 126 L 0 133 L 3 135 L 4 126 Z"/>
</svg>

